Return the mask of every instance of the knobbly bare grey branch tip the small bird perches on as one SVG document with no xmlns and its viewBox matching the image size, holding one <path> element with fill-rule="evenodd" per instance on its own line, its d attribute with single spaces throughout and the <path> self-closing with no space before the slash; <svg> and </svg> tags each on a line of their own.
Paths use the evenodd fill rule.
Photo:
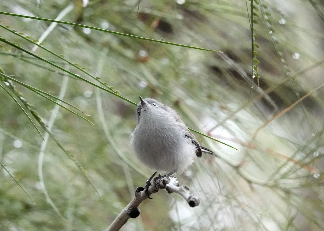
<svg viewBox="0 0 324 231">
<path fill-rule="evenodd" d="M 161 177 L 159 175 L 159 177 L 154 178 L 153 183 L 149 186 L 148 193 L 145 193 L 145 188 L 143 187 L 136 188 L 133 200 L 123 209 L 123 211 L 121 211 L 106 231 L 118 231 L 129 218 L 138 217 L 141 212 L 138 208 L 139 204 L 147 199 L 152 193 L 157 193 L 159 189 L 166 189 L 168 193 L 178 193 L 187 201 L 190 207 L 198 206 L 200 203 L 196 195 L 190 194 L 187 186 L 179 187 L 179 182 L 176 177 Z"/>
</svg>

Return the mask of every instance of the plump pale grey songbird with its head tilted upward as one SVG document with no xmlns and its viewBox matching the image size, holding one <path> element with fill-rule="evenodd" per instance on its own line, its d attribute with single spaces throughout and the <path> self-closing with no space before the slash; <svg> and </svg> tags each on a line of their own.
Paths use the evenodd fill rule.
<svg viewBox="0 0 324 231">
<path fill-rule="evenodd" d="M 178 114 L 155 99 L 141 96 L 136 113 L 138 124 L 131 133 L 137 157 L 148 167 L 171 175 L 184 172 L 202 152 L 215 155 L 199 145 Z"/>
</svg>

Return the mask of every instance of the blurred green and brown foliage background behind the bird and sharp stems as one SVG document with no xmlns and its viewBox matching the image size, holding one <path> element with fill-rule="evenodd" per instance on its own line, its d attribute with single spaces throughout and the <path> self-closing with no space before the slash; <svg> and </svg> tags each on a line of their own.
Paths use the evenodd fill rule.
<svg viewBox="0 0 324 231">
<path fill-rule="evenodd" d="M 0 14 L 0 230 L 105 230 L 153 173 L 129 143 L 138 95 L 173 105 L 188 127 L 239 151 L 196 134 L 220 157 L 204 155 L 177 175 L 201 204 L 191 208 L 161 191 L 122 230 L 323 230 L 323 2 L 254 1 L 254 14 L 250 1 L 137 7 L 135 0 L 0 2 L 1 12 L 38 17 Z M 254 78 L 251 88 L 253 58 L 260 86 Z M 30 86 L 80 108 L 90 116 L 61 103 L 94 125 Z"/>
</svg>

